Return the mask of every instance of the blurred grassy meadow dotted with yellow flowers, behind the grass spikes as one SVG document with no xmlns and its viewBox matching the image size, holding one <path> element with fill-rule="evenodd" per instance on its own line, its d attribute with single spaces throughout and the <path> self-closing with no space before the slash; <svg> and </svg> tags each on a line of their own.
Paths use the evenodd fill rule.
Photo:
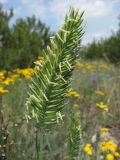
<svg viewBox="0 0 120 160">
<path fill-rule="evenodd" d="M 1 157 L 6 154 L 11 160 L 36 159 L 36 147 L 38 147 L 36 145 L 40 135 L 37 133 L 37 128 L 27 123 L 25 118 L 29 79 L 34 70 L 34 68 L 16 69 L 10 73 L 0 71 L 0 83 L 4 86 L 3 90 L 0 88 Z M 82 141 L 79 159 L 81 160 L 83 157 L 93 159 L 96 155 L 99 155 L 98 159 L 100 157 L 104 159 L 107 154 L 118 154 L 116 145 L 120 145 L 119 75 L 119 66 L 103 61 L 87 62 L 82 59 L 76 61 L 72 88 L 65 95 L 69 103 L 64 112 L 67 115 L 70 108 L 80 111 Z M 52 134 L 45 135 L 43 153 L 46 160 L 69 159 L 66 147 L 69 118 L 67 116 L 64 118 L 64 123 L 57 126 Z M 113 144 L 113 150 L 97 150 L 106 137 L 111 143 L 116 143 Z M 119 159 L 119 155 L 114 158 Z"/>
</svg>

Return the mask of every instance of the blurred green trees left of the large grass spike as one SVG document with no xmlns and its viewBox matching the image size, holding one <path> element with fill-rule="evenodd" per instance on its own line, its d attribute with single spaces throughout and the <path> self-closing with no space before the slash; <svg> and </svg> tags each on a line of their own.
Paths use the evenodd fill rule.
<svg viewBox="0 0 120 160">
<path fill-rule="evenodd" d="M 18 19 L 10 27 L 13 11 L 7 13 L 0 7 L 0 69 L 25 68 L 49 44 L 49 27 L 35 16 Z"/>
</svg>

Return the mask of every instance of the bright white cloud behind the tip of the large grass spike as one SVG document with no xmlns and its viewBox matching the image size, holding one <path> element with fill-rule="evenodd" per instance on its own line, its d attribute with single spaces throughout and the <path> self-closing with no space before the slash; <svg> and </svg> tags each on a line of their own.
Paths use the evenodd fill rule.
<svg viewBox="0 0 120 160">
<path fill-rule="evenodd" d="M 69 6 L 85 10 L 87 17 L 100 17 L 112 10 L 113 3 L 108 0 L 53 0 L 50 2 L 51 13 L 59 18 L 65 15 Z"/>
</svg>

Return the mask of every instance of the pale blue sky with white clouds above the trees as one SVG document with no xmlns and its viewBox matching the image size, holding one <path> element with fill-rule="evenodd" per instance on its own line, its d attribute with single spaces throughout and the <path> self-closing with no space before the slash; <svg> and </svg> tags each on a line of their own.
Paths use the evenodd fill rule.
<svg viewBox="0 0 120 160">
<path fill-rule="evenodd" d="M 0 0 L 3 8 L 14 9 L 14 18 L 25 18 L 35 15 L 47 25 L 51 31 L 57 31 L 62 25 L 69 6 L 85 10 L 85 35 L 83 44 L 93 39 L 108 37 L 118 29 L 120 0 Z"/>
</svg>

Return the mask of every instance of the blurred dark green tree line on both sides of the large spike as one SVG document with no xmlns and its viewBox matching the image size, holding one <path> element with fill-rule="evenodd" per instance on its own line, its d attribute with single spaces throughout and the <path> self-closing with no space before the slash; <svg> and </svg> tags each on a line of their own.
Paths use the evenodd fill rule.
<svg viewBox="0 0 120 160">
<path fill-rule="evenodd" d="M 33 66 L 35 59 L 49 44 L 50 28 L 35 16 L 17 19 L 10 26 L 13 10 L 5 12 L 0 5 L 0 69 L 25 68 Z M 116 17 L 117 18 L 117 17 Z M 118 18 L 120 21 L 120 17 Z M 120 62 L 119 29 L 109 38 L 93 41 L 81 47 L 80 55 L 85 59 L 105 59 Z"/>
</svg>

